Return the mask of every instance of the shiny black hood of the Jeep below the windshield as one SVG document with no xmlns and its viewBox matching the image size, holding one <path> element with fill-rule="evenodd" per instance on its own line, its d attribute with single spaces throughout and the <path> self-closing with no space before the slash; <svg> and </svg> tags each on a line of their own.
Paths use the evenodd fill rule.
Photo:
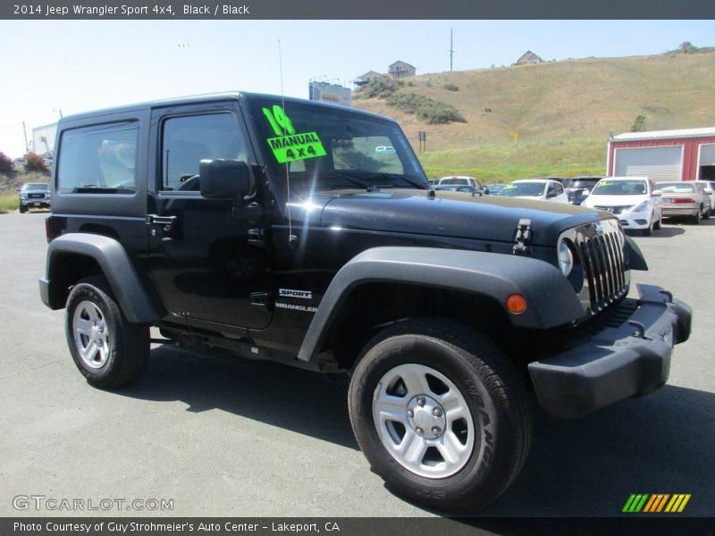
<svg viewBox="0 0 715 536">
<path fill-rule="evenodd" d="M 315 193 L 293 199 L 290 213 L 294 224 L 501 242 L 513 242 L 526 219 L 533 244 L 550 247 L 565 229 L 612 217 L 549 201 L 392 188 Z"/>
</svg>

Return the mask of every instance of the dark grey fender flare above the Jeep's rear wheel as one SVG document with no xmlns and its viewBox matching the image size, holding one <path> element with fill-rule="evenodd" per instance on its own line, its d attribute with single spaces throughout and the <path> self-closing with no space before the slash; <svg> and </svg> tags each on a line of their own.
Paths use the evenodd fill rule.
<svg viewBox="0 0 715 536">
<path fill-rule="evenodd" d="M 129 322 L 147 323 L 159 319 L 122 244 L 115 239 L 90 233 L 63 235 L 50 242 L 47 247 L 46 280 L 40 280 L 46 306 L 61 309 L 65 305 L 59 289 L 53 288 L 53 276 L 61 269 L 55 261 L 58 255 L 63 254 L 87 256 L 99 264 Z"/>
</svg>

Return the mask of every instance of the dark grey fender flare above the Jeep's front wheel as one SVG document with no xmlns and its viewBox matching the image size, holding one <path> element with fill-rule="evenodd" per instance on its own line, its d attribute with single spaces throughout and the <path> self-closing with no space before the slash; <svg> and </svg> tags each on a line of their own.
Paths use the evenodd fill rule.
<svg viewBox="0 0 715 536">
<path fill-rule="evenodd" d="M 484 251 L 435 247 L 374 247 L 353 257 L 335 274 L 310 322 L 298 358 L 312 360 L 332 330 L 342 304 L 358 286 L 400 282 L 492 297 L 504 307 L 510 294 L 526 297 L 519 328 L 549 329 L 585 314 L 576 291 L 556 266 L 542 260 Z"/>
</svg>

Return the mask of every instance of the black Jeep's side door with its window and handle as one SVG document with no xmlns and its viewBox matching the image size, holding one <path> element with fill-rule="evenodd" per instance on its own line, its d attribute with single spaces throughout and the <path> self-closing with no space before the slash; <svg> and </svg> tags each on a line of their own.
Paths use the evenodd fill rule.
<svg viewBox="0 0 715 536">
<path fill-rule="evenodd" d="M 156 189 L 148 203 L 150 274 L 173 322 L 262 329 L 271 276 L 265 248 L 248 243 L 255 227 L 231 214 L 231 199 L 199 192 L 202 159 L 249 161 L 240 113 L 231 107 L 155 110 Z"/>
</svg>

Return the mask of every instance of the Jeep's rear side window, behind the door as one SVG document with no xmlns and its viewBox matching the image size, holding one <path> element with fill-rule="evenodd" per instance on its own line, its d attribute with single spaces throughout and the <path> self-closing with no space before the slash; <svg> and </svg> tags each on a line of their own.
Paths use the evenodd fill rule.
<svg viewBox="0 0 715 536">
<path fill-rule="evenodd" d="M 65 194 L 136 192 L 138 138 L 138 121 L 65 130 L 57 189 Z"/>
</svg>

